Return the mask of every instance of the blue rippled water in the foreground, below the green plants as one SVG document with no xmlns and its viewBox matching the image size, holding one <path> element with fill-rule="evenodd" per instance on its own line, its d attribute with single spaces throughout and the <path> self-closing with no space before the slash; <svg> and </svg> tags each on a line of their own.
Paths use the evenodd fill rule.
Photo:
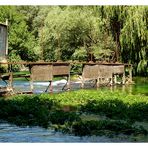
<svg viewBox="0 0 148 148">
<path fill-rule="evenodd" d="M 0 122 L 0 142 L 8 143 L 86 143 L 86 142 L 128 142 L 124 136 L 108 138 L 105 136 L 72 136 L 41 127 L 18 127 L 7 122 Z"/>
</svg>

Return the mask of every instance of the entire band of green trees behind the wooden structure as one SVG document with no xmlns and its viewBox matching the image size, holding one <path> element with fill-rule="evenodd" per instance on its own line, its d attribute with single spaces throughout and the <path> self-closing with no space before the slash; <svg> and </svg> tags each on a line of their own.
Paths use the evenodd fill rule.
<svg viewBox="0 0 148 148">
<path fill-rule="evenodd" d="M 11 61 L 107 61 L 148 75 L 147 6 L 0 6 Z"/>
</svg>

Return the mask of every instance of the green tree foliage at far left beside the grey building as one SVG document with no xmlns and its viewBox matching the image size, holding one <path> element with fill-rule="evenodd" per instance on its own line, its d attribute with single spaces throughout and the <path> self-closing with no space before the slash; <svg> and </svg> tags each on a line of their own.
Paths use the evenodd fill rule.
<svg viewBox="0 0 148 148">
<path fill-rule="evenodd" d="M 22 60 L 37 60 L 37 43 L 35 37 L 28 30 L 25 15 L 19 13 L 17 6 L 1 6 L 0 21 L 8 19 L 9 53 L 15 51 Z"/>
</svg>

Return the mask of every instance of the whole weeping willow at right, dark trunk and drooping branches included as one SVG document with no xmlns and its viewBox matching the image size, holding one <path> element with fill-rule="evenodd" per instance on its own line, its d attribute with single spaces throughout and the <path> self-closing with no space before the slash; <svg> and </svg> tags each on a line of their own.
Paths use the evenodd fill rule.
<svg viewBox="0 0 148 148">
<path fill-rule="evenodd" d="M 116 42 L 116 61 L 134 65 L 134 73 L 148 74 L 148 7 L 99 6 Z"/>
</svg>

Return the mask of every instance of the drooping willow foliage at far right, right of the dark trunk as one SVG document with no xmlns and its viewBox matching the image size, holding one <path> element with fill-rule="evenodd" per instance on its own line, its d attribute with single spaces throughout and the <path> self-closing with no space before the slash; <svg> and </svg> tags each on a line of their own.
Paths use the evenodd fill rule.
<svg viewBox="0 0 148 148">
<path fill-rule="evenodd" d="M 128 7 L 121 30 L 121 51 L 124 62 L 132 63 L 134 73 L 148 74 L 148 7 Z"/>
</svg>

